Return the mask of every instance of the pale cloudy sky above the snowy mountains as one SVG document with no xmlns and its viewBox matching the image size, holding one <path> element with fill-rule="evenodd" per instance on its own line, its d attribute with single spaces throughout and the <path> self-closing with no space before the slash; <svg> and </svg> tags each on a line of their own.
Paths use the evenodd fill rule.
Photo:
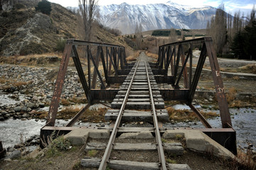
<svg viewBox="0 0 256 170">
<path fill-rule="evenodd" d="M 78 6 L 78 0 L 49 0 L 51 2 L 60 4 L 62 6 Z M 126 2 L 128 4 L 165 4 L 168 0 L 99 0 L 99 5 L 109 4 L 122 4 Z M 245 14 L 252 10 L 252 6 L 256 4 L 255 0 L 172 0 L 172 2 L 187 6 L 201 7 L 201 6 L 213 6 L 218 7 L 221 2 L 224 3 L 226 11 L 242 11 Z"/>
</svg>

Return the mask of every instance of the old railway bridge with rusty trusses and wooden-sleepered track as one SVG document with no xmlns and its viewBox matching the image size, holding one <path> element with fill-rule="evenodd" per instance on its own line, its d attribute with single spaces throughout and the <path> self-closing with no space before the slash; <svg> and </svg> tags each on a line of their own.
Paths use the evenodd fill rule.
<svg viewBox="0 0 256 170">
<path fill-rule="evenodd" d="M 195 69 L 192 66 L 194 47 L 201 48 Z M 65 74 L 71 57 L 88 103 L 65 127 L 56 127 L 57 109 L 60 105 L 62 86 L 65 84 Z M 206 57 L 211 64 L 213 86 L 216 89 L 216 98 L 221 115 L 222 127 L 219 128 L 212 128 L 206 118 L 192 104 Z M 85 62 L 83 67 L 82 62 Z M 99 66 L 103 67 L 103 72 L 99 70 Z M 120 88 L 111 88 L 113 84 L 120 86 Z M 169 84 L 172 87 L 161 88 L 160 84 Z M 87 114 L 89 106 L 94 103 L 101 103 L 101 101 L 111 101 L 111 109 L 108 109 L 105 119 L 111 120 L 112 124 L 108 128 L 111 131 L 111 136 L 105 146 L 106 149 L 100 160 L 99 169 L 106 169 L 107 164 L 111 162 L 109 157 L 113 152 L 113 146 L 118 147 L 120 145 L 116 143 L 117 134 L 142 132 L 143 130 L 148 130 L 155 136 L 153 148 L 157 150 L 158 163 L 157 165 L 152 164 L 152 166 L 157 166 L 159 169 L 170 169 L 169 166 L 171 165 L 166 164 L 165 149 L 163 148 L 165 145 L 162 144 L 161 137 L 166 130 L 175 128 L 163 128 L 162 126 L 162 123 L 169 121 L 169 115 L 165 110 L 168 106 L 165 106 L 165 101 L 186 103 L 204 125 L 204 128 L 197 130 L 201 130 L 233 154 L 237 152 L 235 130 L 232 128 L 220 68 L 210 37 L 162 45 L 159 47 L 157 62 L 150 61 L 142 52 L 136 62 L 130 63 L 126 60 L 125 47 L 106 43 L 67 40 L 50 103 L 48 120 L 40 131 L 41 139 L 47 139 L 52 132 L 62 135 L 74 130 L 74 123 L 79 120 L 82 114 Z M 122 127 L 122 123 L 125 122 L 141 121 L 150 123 L 152 127 Z M 194 130 L 193 128 L 187 129 Z M 143 142 L 138 145 L 138 148 L 145 145 L 148 143 Z M 130 144 L 121 146 L 128 147 Z M 133 147 L 135 146 L 137 145 L 133 144 Z M 183 165 L 182 167 L 186 169 Z"/>
</svg>

